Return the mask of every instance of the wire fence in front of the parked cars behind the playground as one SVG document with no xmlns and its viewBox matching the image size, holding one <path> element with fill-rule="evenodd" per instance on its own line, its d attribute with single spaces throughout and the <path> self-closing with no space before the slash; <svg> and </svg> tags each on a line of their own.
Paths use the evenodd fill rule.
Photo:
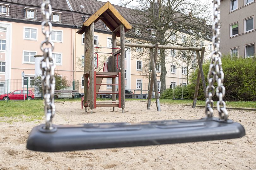
<svg viewBox="0 0 256 170">
<path fill-rule="evenodd" d="M 43 99 L 41 82 L 36 81 L 37 80 L 35 80 L 34 77 L 24 77 L 24 79 L 8 79 L 6 81 L 0 81 L 0 102 L 8 102 L 9 100 L 23 101 L 31 99 Z M 107 82 L 106 84 L 111 84 L 111 82 Z M 116 91 L 118 91 L 118 86 L 115 87 Z M 134 89 L 125 89 L 125 98 L 148 98 L 148 83 L 136 84 L 134 87 Z M 166 88 L 171 87 L 167 86 Z M 108 95 L 105 93 L 112 92 L 111 85 L 101 85 L 99 92 L 102 92 L 102 94 L 98 94 L 97 97 L 112 98 L 111 94 Z M 160 84 L 158 84 L 158 93 L 160 93 Z M 81 98 L 82 96 L 84 96 L 83 81 L 56 81 L 55 98 Z M 152 97 L 155 97 L 154 88 Z"/>
</svg>

